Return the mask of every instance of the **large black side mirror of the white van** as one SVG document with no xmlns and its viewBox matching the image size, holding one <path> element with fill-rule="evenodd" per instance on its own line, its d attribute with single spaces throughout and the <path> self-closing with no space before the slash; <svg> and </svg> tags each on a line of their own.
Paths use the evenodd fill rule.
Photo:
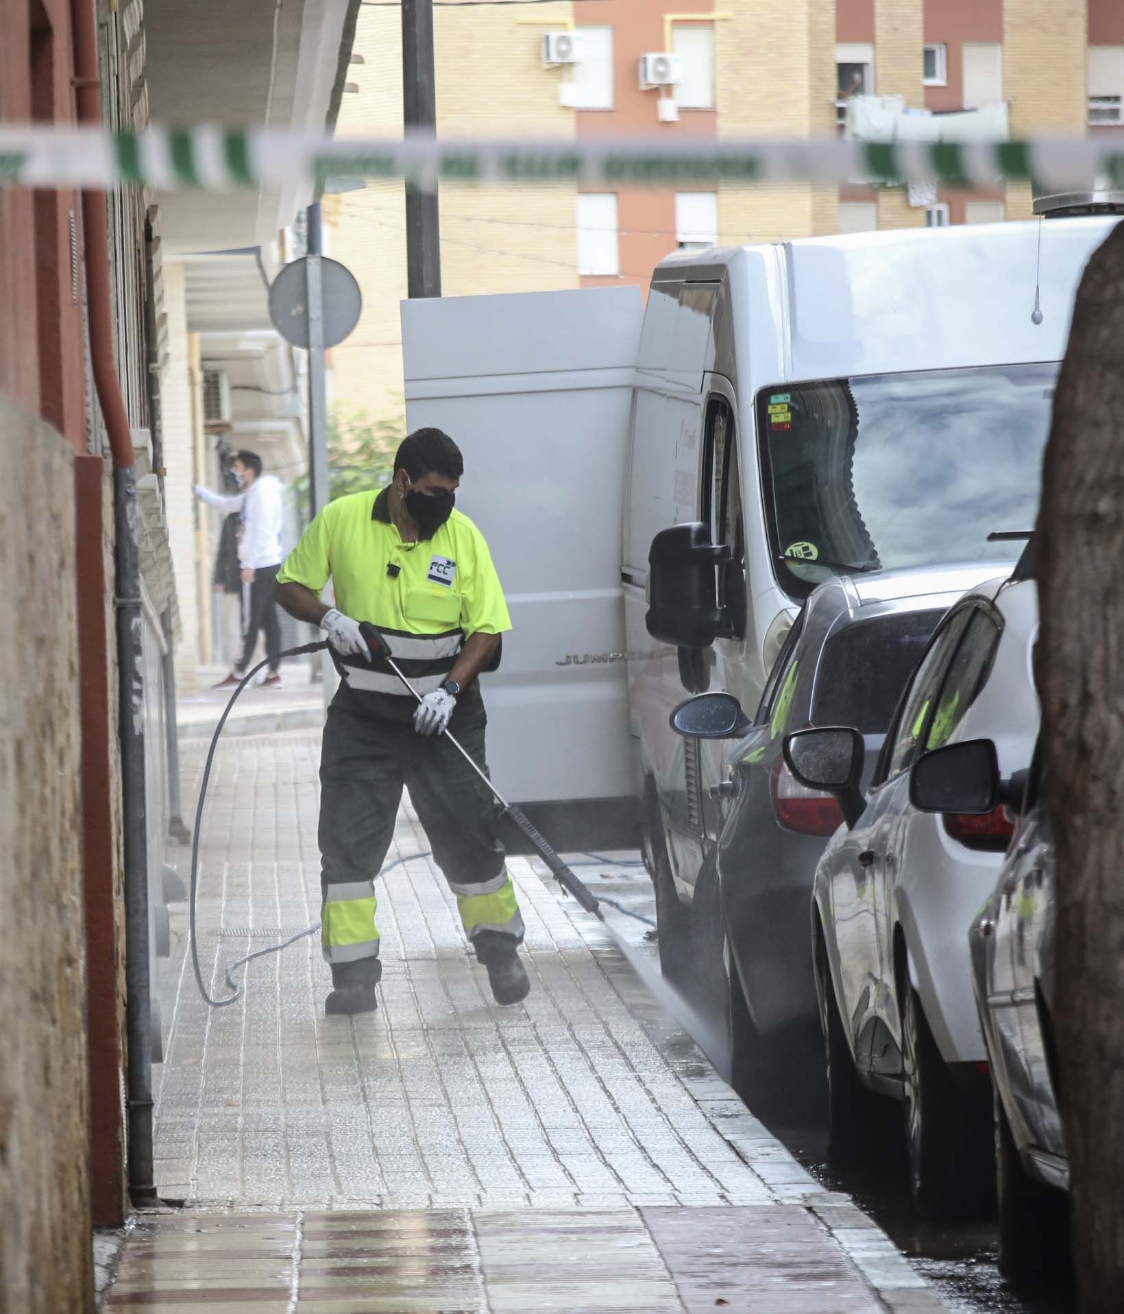
<svg viewBox="0 0 1124 1314">
<path fill-rule="evenodd" d="M 701 522 L 674 524 L 657 533 L 647 555 L 645 618 L 653 639 L 675 648 L 708 648 L 727 633 L 714 568 L 729 560 L 729 547 L 710 543 Z"/>
</svg>

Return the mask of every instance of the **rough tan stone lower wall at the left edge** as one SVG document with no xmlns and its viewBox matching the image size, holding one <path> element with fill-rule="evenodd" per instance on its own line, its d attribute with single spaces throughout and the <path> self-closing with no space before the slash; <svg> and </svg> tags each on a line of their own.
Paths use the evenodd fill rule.
<svg viewBox="0 0 1124 1314">
<path fill-rule="evenodd" d="M 0 1306 L 58 1314 L 92 1296 L 74 452 L 7 397 L 0 445 Z"/>
</svg>

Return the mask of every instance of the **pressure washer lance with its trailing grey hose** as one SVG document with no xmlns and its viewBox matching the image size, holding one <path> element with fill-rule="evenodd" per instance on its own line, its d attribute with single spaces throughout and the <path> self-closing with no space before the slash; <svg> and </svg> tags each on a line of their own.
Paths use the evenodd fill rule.
<svg viewBox="0 0 1124 1314">
<path fill-rule="evenodd" d="M 383 660 L 394 671 L 394 674 L 402 681 L 402 683 L 410 690 L 414 698 L 416 698 L 418 702 L 420 703 L 422 695 L 418 692 L 416 689 L 414 689 L 410 681 L 402 674 L 402 671 L 395 665 L 394 658 L 390 656 L 386 640 L 382 637 L 382 635 L 374 628 L 374 625 L 369 624 L 368 622 L 364 622 L 360 625 L 360 631 L 362 632 L 364 639 L 366 639 L 366 643 L 370 646 L 372 652 L 382 654 Z M 306 653 L 323 652 L 327 646 L 328 646 L 327 640 L 320 640 L 319 643 L 314 644 L 302 644 L 299 648 L 286 648 L 285 652 L 280 653 L 278 656 L 301 657 Z M 238 700 L 239 694 L 253 679 L 253 677 L 267 665 L 268 665 L 268 658 L 267 661 L 260 661 L 256 666 L 252 666 L 242 677 L 242 681 L 239 682 L 238 687 L 230 695 L 230 700 L 223 708 L 222 716 L 219 716 L 218 725 L 215 725 L 214 735 L 211 736 L 210 748 L 207 749 L 206 763 L 204 765 L 204 777 L 202 781 L 200 782 L 200 799 L 198 803 L 196 804 L 196 824 L 192 832 L 192 886 L 190 886 L 190 894 L 188 896 L 189 897 L 188 929 L 189 929 L 189 940 L 192 947 L 192 967 L 194 968 L 196 974 L 196 986 L 198 987 L 202 999 L 207 1004 L 210 1004 L 211 1008 L 226 1008 L 228 1004 L 236 1004 L 238 1000 L 242 999 L 242 986 L 238 982 L 235 982 L 234 976 L 231 975 L 236 968 L 244 966 L 246 963 L 252 963 L 255 958 L 264 958 L 267 954 L 277 954 L 282 949 L 288 949 L 290 945 L 295 945 L 298 940 L 305 940 L 307 936 L 314 936 L 320 929 L 320 922 L 316 922 L 314 926 L 309 926 L 306 930 L 301 930 L 295 936 L 290 936 L 289 940 L 282 940 L 277 945 L 269 945 L 265 949 L 259 949 L 255 950 L 255 953 L 252 954 L 247 954 L 244 958 L 235 959 L 223 971 L 223 976 L 230 989 L 230 995 L 227 995 L 223 999 L 211 999 L 211 996 L 207 993 L 207 988 L 204 984 L 204 974 L 202 970 L 200 968 L 200 951 L 198 951 L 198 941 L 196 937 L 196 894 L 198 890 L 198 874 L 200 874 L 200 833 L 202 832 L 204 807 L 206 804 L 207 784 L 210 783 L 210 773 L 211 773 L 211 766 L 214 763 L 214 754 L 215 749 L 218 748 L 219 736 L 222 735 L 223 727 L 226 725 L 226 720 L 230 716 L 231 710 L 234 708 L 234 704 Z M 499 790 L 492 784 L 488 775 L 481 770 L 481 767 L 471 758 L 471 756 L 449 733 L 448 728 L 443 733 L 448 736 L 449 741 L 457 749 L 461 757 L 469 763 L 469 766 L 471 766 L 471 769 L 477 773 L 477 775 L 488 787 L 492 796 L 503 809 L 503 815 L 511 817 L 512 823 L 517 825 L 520 830 L 523 830 L 523 833 L 534 846 L 536 853 L 542 858 L 542 861 L 550 869 L 551 874 L 554 875 L 554 879 L 562 886 L 563 890 L 566 890 L 567 894 L 571 894 L 578 900 L 578 903 L 586 909 L 586 912 L 591 912 L 601 921 L 604 921 L 605 917 L 599 904 L 605 903 L 611 908 L 616 908 L 618 912 L 622 912 L 626 917 L 634 917 L 637 921 L 642 921 L 649 926 L 655 925 L 655 922 L 650 917 L 643 917 L 641 913 L 633 912 L 630 908 L 625 908 L 615 899 L 599 900 L 574 875 L 574 872 L 558 857 L 558 854 L 554 851 L 554 849 L 550 846 L 546 838 L 542 834 L 540 834 L 540 832 L 532 825 L 532 823 L 523 815 L 520 808 L 517 808 L 513 803 L 508 803 L 507 799 L 504 799 L 504 796 L 499 792 Z M 402 863 L 411 862 L 415 858 L 428 858 L 428 857 L 431 857 L 428 850 L 424 853 L 411 853 L 407 858 L 398 858 L 395 862 L 391 862 L 389 867 L 383 867 L 382 872 L 393 871 L 395 867 L 402 866 Z"/>
</svg>

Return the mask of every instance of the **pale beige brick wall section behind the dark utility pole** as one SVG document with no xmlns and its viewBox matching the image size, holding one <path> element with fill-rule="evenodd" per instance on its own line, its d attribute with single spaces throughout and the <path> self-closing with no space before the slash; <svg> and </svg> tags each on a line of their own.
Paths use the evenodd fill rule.
<svg viewBox="0 0 1124 1314">
<path fill-rule="evenodd" d="M 520 21 L 533 13 L 536 21 Z M 542 22 L 538 22 L 538 20 Z M 571 138 L 574 110 L 558 102 L 557 75 L 540 55 L 546 26 L 565 28 L 569 3 L 435 11 L 439 131 L 448 137 L 513 133 Z M 361 11 L 336 133 L 402 131 L 402 30 L 397 9 Z M 517 125 L 517 126 L 513 126 Z M 446 296 L 576 288 L 573 187 L 441 188 L 441 279 Z M 404 411 L 402 330 L 406 297 L 404 193 L 372 183 L 326 208 L 330 251 L 352 269 L 364 309 L 352 336 L 332 351 L 332 402 L 344 413 L 395 419 Z"/>
</svg>

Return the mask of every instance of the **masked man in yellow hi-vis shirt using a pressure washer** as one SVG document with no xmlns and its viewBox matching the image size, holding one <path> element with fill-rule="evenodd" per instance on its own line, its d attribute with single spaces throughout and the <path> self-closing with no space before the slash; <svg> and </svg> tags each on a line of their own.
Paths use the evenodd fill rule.
<svg viewBox="0 0 1124 1314">
<path fill-rule="evenodd" d="M 327 632 L 341 677 L 320 754 L 328 1013 L 365 1013 L 377 1004 L 382 964 L 373 882 L 403 786 L 496 1001 L 517 1004 L 530 989 L 492 798 L 443 735 L 448 727 L 485 766 L 487 717 L 477 677 L 511 629 L 487 543 L 453 509 L 462 472 L 460 448 L 446 434 L 418 430 L 398 448 L 390 485 L 330 502 L 277 576 L 277 602 Z M 335 607 L 320 602 L 330 577 Z M 361 622 L 386 636 L 422 703 L 372 654 Z"/>
</svg>

